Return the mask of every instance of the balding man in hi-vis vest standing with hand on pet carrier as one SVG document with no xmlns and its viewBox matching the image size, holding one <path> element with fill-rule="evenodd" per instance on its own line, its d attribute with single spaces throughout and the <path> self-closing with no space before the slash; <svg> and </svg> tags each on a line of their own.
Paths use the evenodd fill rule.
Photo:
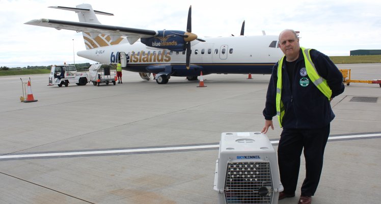
<svg viewBox="0 0 381 204">
<path fill-rule="evenodd" d="M 323 166 L 330 122 L 335 114 L 330 101 L 344 91 L 343 76 L 335 64 L 315 49 L 300 47 L 293 30 L 279 35 L 284 57 L 274 65 L 263 110 L 265 125 L 274 130 L 273 116 L 283 126 L 278 146 L 278 163 L 284 191 L 279 199 L 294 197 L 304 148 L 306 178 L 299 204 L 311 203 Z"/>
</svg>

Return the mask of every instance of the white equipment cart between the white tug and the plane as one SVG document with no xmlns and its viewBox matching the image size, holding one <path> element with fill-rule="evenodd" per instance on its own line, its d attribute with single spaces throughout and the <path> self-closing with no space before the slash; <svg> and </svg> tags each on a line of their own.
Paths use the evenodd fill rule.
<svg viewBox="0 0 381 204">
<path fill-rule="evenodd" d="M 108 85 L 110 82 L 115 85 L 118 80 L 116 70 L 117 67 L 112 63 L 93 64 L 89 67 L 90 81 L 94 86 L 103 83 Z"/>
</svg>

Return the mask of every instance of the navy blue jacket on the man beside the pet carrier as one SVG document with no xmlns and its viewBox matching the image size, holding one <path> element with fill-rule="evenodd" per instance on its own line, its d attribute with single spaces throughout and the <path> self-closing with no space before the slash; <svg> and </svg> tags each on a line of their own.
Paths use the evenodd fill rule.
<svg viewBox="0 0 381 204">
<path fill-rule="evenodd" d="M 310 51 L 312 62 L 320 77 L 324 78 L 332 90 L 332 98 L 344 92 L 343 75 L 330 58 L 315 49 Z M 290 80 L 286 70 L 286 58 L 282 66 L 282 97 L 285 114 L 282 126 L 285 129 L 315 129 L 328 125 L 335 117 L 328 98 L 311 82 L 308 75 L 301 69 L 305 66 L 302 49 L 294 68 L 292 91 Z M 305 76 L 304 76 L 305 75 Z M 309 80 L 306 86 L 306 80 Z M 273 119 L 277 115 L 276 94 L 278 80 L 278 63 L 274 65 L 268 84 L 266 104 L 263 116 L 266 120 Z M 304 86 L 302 86 L 304 85 Z M 278 118 L 277 118 L 278 121 Z"/>
</svg>

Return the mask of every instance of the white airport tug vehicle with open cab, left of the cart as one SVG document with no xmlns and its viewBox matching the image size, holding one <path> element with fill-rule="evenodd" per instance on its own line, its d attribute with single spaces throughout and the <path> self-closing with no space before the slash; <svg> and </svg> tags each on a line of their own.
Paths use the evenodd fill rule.
<svg viewBox="0 0 381 204">
<path fill-rule="evenodd" d="M 89 74 L 86 72 L 77 72 L 74 65 L 52 65 L 49 75 L 48 85 L 58 85 L 66 87 L 75 83 L 79 86 L 85 86 L 89 82 Z"/>
</svg>

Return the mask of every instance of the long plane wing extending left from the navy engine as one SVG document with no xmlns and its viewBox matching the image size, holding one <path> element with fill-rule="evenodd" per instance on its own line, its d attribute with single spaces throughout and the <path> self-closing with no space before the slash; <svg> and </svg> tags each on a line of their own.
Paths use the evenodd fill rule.
<svg viewBox="0 0 381 204">
<path fill-rule="evenodd" d="M 25 22 L 24 24 L 38 25 L 42 27 L 55 28 L 57 30 L 65 29 L 79 32 L 86 32 L 93 35 L 106 34 L 113 37 L 126 36 L 128 42 L 133 44 L 140 38 L 149 38 L 158 35 L 157 31 L 144 30 L 144 29 L 133 29 L 126 27 L 119 27 L 113 25 L 104 25 L 89 22 L 74 22 L 65 20 L 54 20 L 54 19 L 35 19 Z M 95 37 L 94 36 L 94 37 Z"/>
</svg>

